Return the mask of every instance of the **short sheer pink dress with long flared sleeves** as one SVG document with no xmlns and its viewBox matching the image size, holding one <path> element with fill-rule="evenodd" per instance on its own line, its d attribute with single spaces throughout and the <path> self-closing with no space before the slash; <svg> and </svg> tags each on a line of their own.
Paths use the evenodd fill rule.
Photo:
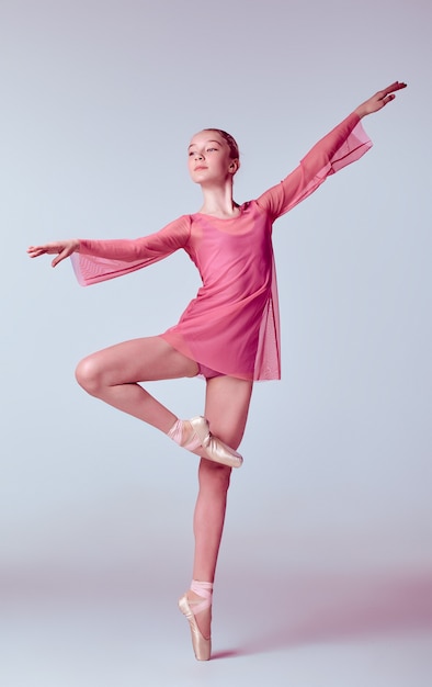
<svg viewBox="0 0 432 687">
<path fill-rule="evenodd" d="M 82 285 L 127 274 L 182 248 L 203 285 L 179 323 L 161 336 L 205 368 L 246 380 L 281 378 L 273 222 L 372 143 L 353 113 L 325 136 L 280 184 L 243 203 L 230 219 L 195 213 L 137 239 L 80 240 L 72 263 Z"/>
</svg>

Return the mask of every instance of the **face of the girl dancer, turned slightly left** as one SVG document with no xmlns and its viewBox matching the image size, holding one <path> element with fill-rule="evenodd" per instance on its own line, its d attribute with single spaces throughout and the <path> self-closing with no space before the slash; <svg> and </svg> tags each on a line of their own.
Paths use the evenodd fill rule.
<svg viewBox="0 0 432 687">
<path fill-rule="evenodd" d="M 226 140 L 213 131 L 193 136 L 187 149 L 189 172 L 195 183 L 224 182 L 236 173 L 237 160 L 230 157 Z"/>
</svg>

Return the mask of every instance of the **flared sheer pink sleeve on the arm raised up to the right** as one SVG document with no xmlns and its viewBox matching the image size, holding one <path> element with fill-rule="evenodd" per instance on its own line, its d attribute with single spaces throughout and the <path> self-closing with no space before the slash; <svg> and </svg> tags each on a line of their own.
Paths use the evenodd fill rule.
<svg viewBox="0 0 432 687">
<path fill-rule="evenodd" d="M 259 206 L 269 212 L 273 222 L 310 195 L 327 177 L 361 158 L 371 147 L 372 142 L 353 112 L 321 138 L 291 174 L 257 199 Z"/>
</svg>

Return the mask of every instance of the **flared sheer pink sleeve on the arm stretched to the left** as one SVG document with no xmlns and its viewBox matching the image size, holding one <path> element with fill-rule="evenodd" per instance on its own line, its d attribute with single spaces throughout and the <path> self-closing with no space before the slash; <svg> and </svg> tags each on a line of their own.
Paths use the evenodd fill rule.
<svg viewBox="0 0 432 687">
<path fill-rule="evenodd" d="M 79 252 L 71 256 L 81 286 L 122 277 L 167 258 L 187 246 L 190 216 L 183 215 L 160 232 L 135 239 L 80 239 Z"/>
</svg>

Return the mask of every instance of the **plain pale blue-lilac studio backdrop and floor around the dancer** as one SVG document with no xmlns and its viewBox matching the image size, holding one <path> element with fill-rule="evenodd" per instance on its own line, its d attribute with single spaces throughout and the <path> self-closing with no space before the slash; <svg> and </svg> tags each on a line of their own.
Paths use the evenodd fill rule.
<svg viewBox="0 0 432 687">
<path fill-rule="evenodd" d="M 425 0 L 0 1 L 0 679 L 7 687 L 405 687 L 432 675 L 431 113 Z M 375 90 L 375 146 L 275 226 L 283 381 L 257 385 L 214 647 L 194 662 L 196 462 L 87 397 L 86 353 L 156 334 L 185 256 L 81 289 L 25 248 L 194 211 L 190 136 L 231 132 L 237 200 Z M 204 385 L 155 385 L 200 413 Z"/>
</svg>

